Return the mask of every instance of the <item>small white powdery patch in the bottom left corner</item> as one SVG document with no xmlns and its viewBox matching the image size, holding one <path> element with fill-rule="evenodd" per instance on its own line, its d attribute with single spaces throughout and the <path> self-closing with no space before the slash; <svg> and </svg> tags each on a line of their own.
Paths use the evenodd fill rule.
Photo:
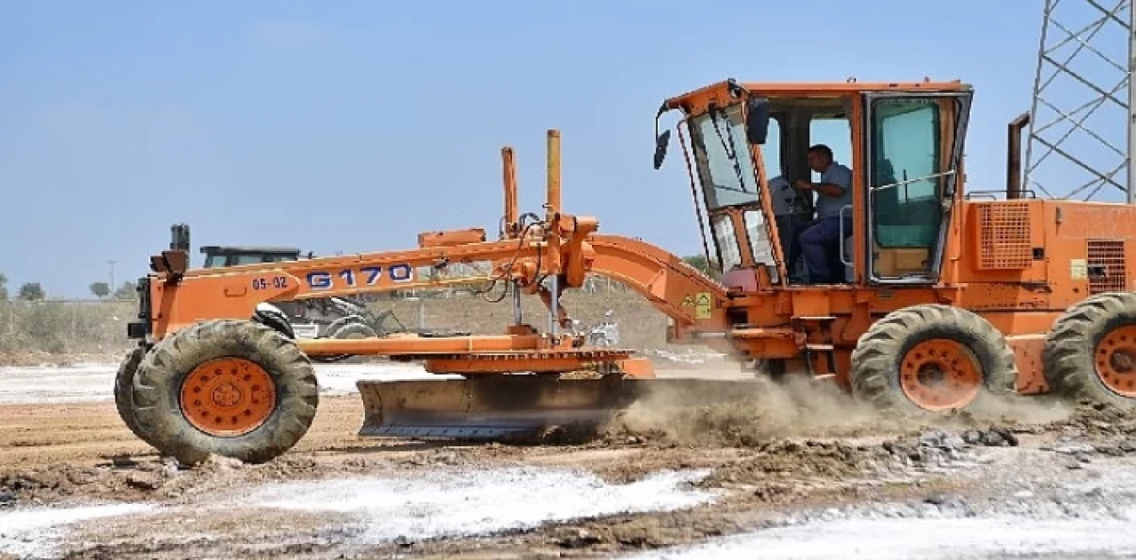
<svg viewBox="0 0 1136 560">
<path fill-rule="evenodd" d="M 153 509 L 148 504 L 119 503 L 76 508 L 35 508 L 0 511 L 0 553 L 18 558 L 52 558 L 67 525 L 125 516 Z"/>
</svg>

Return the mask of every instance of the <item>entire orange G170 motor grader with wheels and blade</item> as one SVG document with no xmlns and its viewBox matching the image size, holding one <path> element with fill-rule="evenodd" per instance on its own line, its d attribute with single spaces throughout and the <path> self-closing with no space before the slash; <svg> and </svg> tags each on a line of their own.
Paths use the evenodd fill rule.
<svg viewBox="0 0 1136 560">
<path fill-rule="evenodd" d="M 1127 264 L 1136 208 L 1030 197 L 1013 178 L 1017 153 L 1005 200 L 964 193 L 971 97 L 960 82 L 725 81 L 665 101 L 655 122 L 683 114 L 677 129 L 720 281 L 563 212 L 557 131 L 548 135 L 543 215 L 520 215 L 512 152 L 502 150 L 496 240 L 479 228 L 431 232 L 402 251 L 190 269 L 187 228 L 175 226 L 169 249 L 151 257 L 152 271 L 139 282 L 139 320 L 128 327 L 139 344 L 119 368 L 119 412 L 139 437 L 184 461 L 217 453 L 259 462 L 310 426 L 319 400 L 314 356 L 421 360 L 429 373 L 463 377 L 360 381 L 362 435 L 503 438 L 594 428 L 653 391 L 747 399 L 765 387 L 655 378 L 630 350 L 588 345 L 560 303 L 587 274 L 645 296 L 670 318 L 673 342 L 830 381 L 884 410 L 966 409 L 1050 391 L 1131 406 L 1136 295 Z M 809 285 L 790 279 L 766 168 L 776 152 L 786 174 L 807 176 L 818 119 L 849 131 L 852 198 L 841 220 L 851 234 L 829 248 L 845 276 Z M 670 133 L 657 125 L 655 137 L 659 168 Z M 468 283 L 512 295 L 504 334 L 293 340 L 258 310 Z M 544 332 L 523 320 L 525 294 L 549 307 Z"/>
</svg>

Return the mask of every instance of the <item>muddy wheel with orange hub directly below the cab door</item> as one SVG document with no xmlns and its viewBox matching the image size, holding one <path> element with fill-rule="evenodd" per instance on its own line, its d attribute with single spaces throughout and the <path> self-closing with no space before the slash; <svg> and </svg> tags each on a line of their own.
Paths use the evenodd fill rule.
<svg viewBox="0 0 1136 560">
<path fill-rule="evenodd" d="M 852 351 L 852 392 L 882 411 L 907 416 L 983 407 L 1012 398 L 1013 350 L 986 319 L 925 304 L 895 310 Z"/>
</svg>

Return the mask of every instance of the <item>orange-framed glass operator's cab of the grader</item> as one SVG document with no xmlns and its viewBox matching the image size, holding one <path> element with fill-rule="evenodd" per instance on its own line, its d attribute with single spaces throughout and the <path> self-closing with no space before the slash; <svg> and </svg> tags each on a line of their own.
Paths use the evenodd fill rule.
<svg viewBox="0 0 1136 560">
<path fill-rule="evenodd" d="M 825 248 L 829 268 L 841 273 L 833 283 L 930 285 L 942 271 L 970 100 L 960 83 L 727 82 L 668 100 L 660 116 L 686 114 L 679 133 L 695 204 L 704 208 L 699 216 L 709 223 L 703 244 L 727 286 L 752 287 L 758 268 L 787 285 L 780 278 L 788 248 L 776 235 L 768 184 L 774 175 L 816 182 L 805 164 L 815 144 L 846 154 L 841 162 L 857 177 L 853 203 L 837 218 L 851 233 Z M 657 168 L 668 143 L 669 131 L 658 135 Z M 822 197 L 799 194 L 813 203 Z"/>
</svg>

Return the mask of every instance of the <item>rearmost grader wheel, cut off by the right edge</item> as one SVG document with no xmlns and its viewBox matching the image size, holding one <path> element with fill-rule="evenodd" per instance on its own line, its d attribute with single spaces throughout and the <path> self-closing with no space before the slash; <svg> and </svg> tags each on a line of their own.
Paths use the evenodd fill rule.
<svg viewBox="0 0 1136 560">
<path fill-rule="evenodd" d="M 1070 307 L 1045 336 L 1042 360 L 1062 396 L 1136 409 L 1136 294 L 1102 293 Z"/>
</svg>

